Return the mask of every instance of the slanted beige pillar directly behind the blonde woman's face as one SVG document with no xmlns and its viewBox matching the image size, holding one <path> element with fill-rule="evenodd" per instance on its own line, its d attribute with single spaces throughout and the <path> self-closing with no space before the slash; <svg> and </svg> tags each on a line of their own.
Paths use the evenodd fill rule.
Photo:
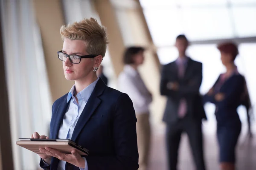
<svg viewBox="0 0 256 170">
<path fill-rule="evenodd" d="M 57 51 L 62 49 L 59 30 L 64 24 L 61 0 L 34 0 L 35 14 L 41 31 L 44 56 L 51 88 L 52 101 L 70 91 L 73 81 L 64 77 Z"/>
</svg>

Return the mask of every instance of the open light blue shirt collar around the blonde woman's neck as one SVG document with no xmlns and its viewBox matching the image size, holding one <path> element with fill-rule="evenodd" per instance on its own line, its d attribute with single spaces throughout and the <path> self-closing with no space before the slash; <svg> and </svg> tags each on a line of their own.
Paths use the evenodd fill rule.
<svg viewBox="0 0 256 170">
<path fill-rule="evenodd" d="M 80 91 L 78 93 L 81 95 L 84 102 L 87 102 L 88 99 L 90 98 L 90 95 L 93 93 L 93 90 L 94 90 L 98 80 L 99 80 L 99 77 L 94 82 L 92 82 L 90 85 L 88 85 L 86 88 L 84 88 L 82 91 Z M 75 90 L 76 90 L 76 85 L 73 85 L 72 88 L 70 89 L 70 92 L 67 95 L 67 102 L 69 102 L 71 98 L 73 100 L 76 99 L 74 96 Z"/>
</svg>

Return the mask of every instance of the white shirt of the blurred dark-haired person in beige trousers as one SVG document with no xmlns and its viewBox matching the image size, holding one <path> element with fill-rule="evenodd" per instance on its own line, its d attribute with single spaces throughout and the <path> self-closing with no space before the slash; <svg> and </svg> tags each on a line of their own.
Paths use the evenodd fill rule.
<svg viewBox="0 0 256 170">
<path fill-rule="evenodd" d="M 118 90 L 131 98 L 136 114 L 148 113 L 152 96 L 146 88 L 140 74 L 131 65 L 125 65 L 118 77 Z"/>
</svg>

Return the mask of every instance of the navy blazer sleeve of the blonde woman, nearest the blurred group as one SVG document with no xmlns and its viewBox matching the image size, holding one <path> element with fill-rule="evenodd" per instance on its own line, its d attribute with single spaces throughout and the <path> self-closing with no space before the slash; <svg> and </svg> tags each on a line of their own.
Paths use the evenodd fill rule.
<svg viewBox="0 0 256 170">
<path fill-rule="evenodd" d="M 116 156 L 87 156 L 88 170 L 137 170 L 136 116 L 131 99 L 122 94 L 113 113 L 113 139 Z"/>
</svg>

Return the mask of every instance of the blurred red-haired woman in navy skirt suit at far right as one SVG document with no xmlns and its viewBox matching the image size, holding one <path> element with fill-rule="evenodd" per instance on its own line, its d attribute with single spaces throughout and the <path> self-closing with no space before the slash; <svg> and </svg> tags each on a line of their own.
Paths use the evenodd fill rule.
<svg viewBox="0 0 256 170">
<path fill-rule="evenodd" d="M 241 132 L 241 121 L 237 108 L 245 101 L 246 84 L 234 63 L 238 48 L 233 42 L 218 45 L 221 62 L 226 72 L 221 74 L 213 87 L 204 96 L 204 102 L 216 105 L 217 138 L 221 170 L 235 170 L 236 144 Z M 242 99 L 243 97 L 243 99 Z M 245 104 L 247 105 L 247 104 Z"/>
</svg>

